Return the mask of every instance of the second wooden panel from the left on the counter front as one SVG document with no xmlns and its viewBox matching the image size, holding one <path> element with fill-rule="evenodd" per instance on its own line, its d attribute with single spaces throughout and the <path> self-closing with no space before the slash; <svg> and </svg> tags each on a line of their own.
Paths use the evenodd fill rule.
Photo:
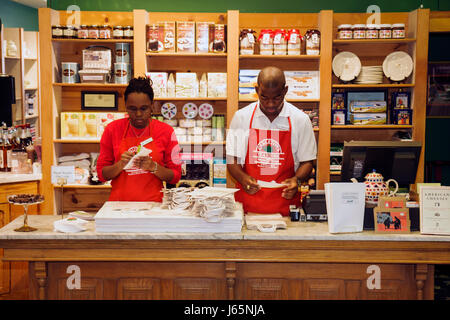
<svg viewBox="0 0 450 320">
<path fill-rule="evenodd" d="M 122 278 L 117 281 L 118 300 L 159 300 L 161 281 L 154 278 Z"/>
</svg>

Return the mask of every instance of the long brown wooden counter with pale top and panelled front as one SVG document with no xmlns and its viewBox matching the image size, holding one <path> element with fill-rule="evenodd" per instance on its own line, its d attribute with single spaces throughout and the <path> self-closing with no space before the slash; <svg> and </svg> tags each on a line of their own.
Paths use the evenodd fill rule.
<svg viewBox="0 0 450 320">
<path fill-rule="evenodd" d="M 30 263 L 32 299 L 433 299 L 434 264 L 450 263 L 450 237 L 418 232 L 289 222 L 273 234 L 110 234 L 90 222 L 63 234 L 60 218 L 31 216 L 33 233 L 13 231 L 21 217 L 0 229 L 4 260 Z M 73 265 L 81 289 L 68 286 Z"/>
</svg>

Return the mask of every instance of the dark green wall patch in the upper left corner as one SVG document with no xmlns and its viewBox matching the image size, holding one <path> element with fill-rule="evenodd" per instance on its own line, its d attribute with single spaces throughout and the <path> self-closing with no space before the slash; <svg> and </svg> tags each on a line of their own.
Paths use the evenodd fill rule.
<svg viewBox="0 0 450 320">
<path fill-rule="evenodd" d="M 0 0 L 0 19 L 5 28 L 38 31 L 38 10 L 10 0 Z"/>
</svg>

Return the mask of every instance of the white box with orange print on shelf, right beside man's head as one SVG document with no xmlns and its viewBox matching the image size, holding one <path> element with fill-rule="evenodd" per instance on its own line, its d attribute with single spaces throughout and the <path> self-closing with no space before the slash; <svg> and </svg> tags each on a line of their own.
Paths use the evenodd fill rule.
<svg viewBox="0 0 450 320">
<path fill-rule="evenodd" d="M 319 71 L 285 71 L 286 99 L 319 99 Z"/>
</svg>

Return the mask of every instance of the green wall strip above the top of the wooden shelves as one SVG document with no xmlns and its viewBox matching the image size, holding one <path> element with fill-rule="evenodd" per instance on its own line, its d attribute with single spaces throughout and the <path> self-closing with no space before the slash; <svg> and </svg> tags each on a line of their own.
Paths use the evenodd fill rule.
<svg viewBox="0 0 450 320">
<path fill-rule="evenodd" d="M 48 0 L 53 9 L 65 10 L 78 5 L 86 11 L 147 11 L 223 12 L 237 9 L 241 12 L 365 12 L 370 5 L 378 5 L 383 12 L 411 11 L 421 4 L 431 10 L 450 10 L 448 0 Z"/>
</svg>

